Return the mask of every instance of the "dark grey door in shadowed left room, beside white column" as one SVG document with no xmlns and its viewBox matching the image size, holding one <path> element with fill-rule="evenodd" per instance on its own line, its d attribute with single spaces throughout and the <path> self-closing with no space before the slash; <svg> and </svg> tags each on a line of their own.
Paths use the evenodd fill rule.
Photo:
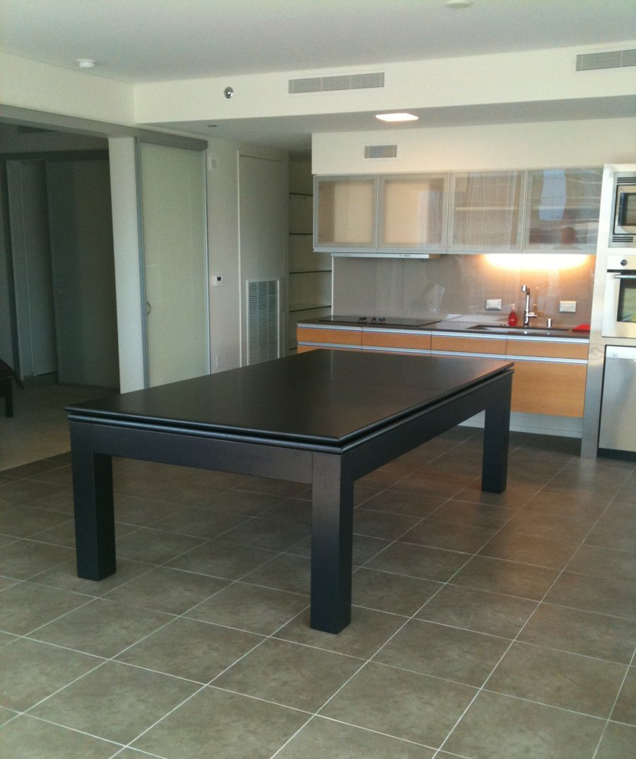
<svg viewBox="0 0 636 759">
<path fill-rule="evenodd" d="M 46 166 L 58 382 L 119 385 L 109 162 Z"/>
</svg>

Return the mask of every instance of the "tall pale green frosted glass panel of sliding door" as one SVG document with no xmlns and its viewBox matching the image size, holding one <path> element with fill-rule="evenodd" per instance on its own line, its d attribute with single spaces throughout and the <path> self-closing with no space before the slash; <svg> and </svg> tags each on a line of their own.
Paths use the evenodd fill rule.
<svg viewBox="0 0 636 759">
<path fill-rule="evenodd" d="M 204 153 L 140 143 L 148 386 L 209 373 Z"/>
</svg>

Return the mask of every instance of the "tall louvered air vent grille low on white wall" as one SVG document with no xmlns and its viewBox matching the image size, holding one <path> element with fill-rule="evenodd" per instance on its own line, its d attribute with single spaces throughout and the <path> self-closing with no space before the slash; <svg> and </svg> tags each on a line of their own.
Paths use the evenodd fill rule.
<svg viewBox="0 0 636 759">
<path fill-rule="evenodd" d="M 280 357 L 280 280 L 247 281 L 247 363 Z"/>
</svg>

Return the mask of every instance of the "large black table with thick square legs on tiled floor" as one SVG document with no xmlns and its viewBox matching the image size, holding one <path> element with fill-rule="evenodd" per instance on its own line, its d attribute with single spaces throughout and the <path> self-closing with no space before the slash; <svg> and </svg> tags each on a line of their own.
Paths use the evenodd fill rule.
<svg viewBox="0 0 636 759">
<path fill-rule="evenodd" d="M 485 411 L 505 490 L 512 363 L 316 350 L 67 408 L 77 575 L 115 572 L 112 456 L 312 486 L 311 627 L 351 621 L 354 480 Z"/>
</svg>

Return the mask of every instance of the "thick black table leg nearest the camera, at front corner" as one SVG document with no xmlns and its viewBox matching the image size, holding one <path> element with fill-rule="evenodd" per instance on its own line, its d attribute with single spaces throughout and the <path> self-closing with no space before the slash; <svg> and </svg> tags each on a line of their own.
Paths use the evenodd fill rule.
<svg viewBox="0 0 636 759">
<path fill-rule="evenodd" d="M 354 483 L 342 456 L 313 454 L 310 626 L 340 632 L 351 622 Z"/>
</svg>

